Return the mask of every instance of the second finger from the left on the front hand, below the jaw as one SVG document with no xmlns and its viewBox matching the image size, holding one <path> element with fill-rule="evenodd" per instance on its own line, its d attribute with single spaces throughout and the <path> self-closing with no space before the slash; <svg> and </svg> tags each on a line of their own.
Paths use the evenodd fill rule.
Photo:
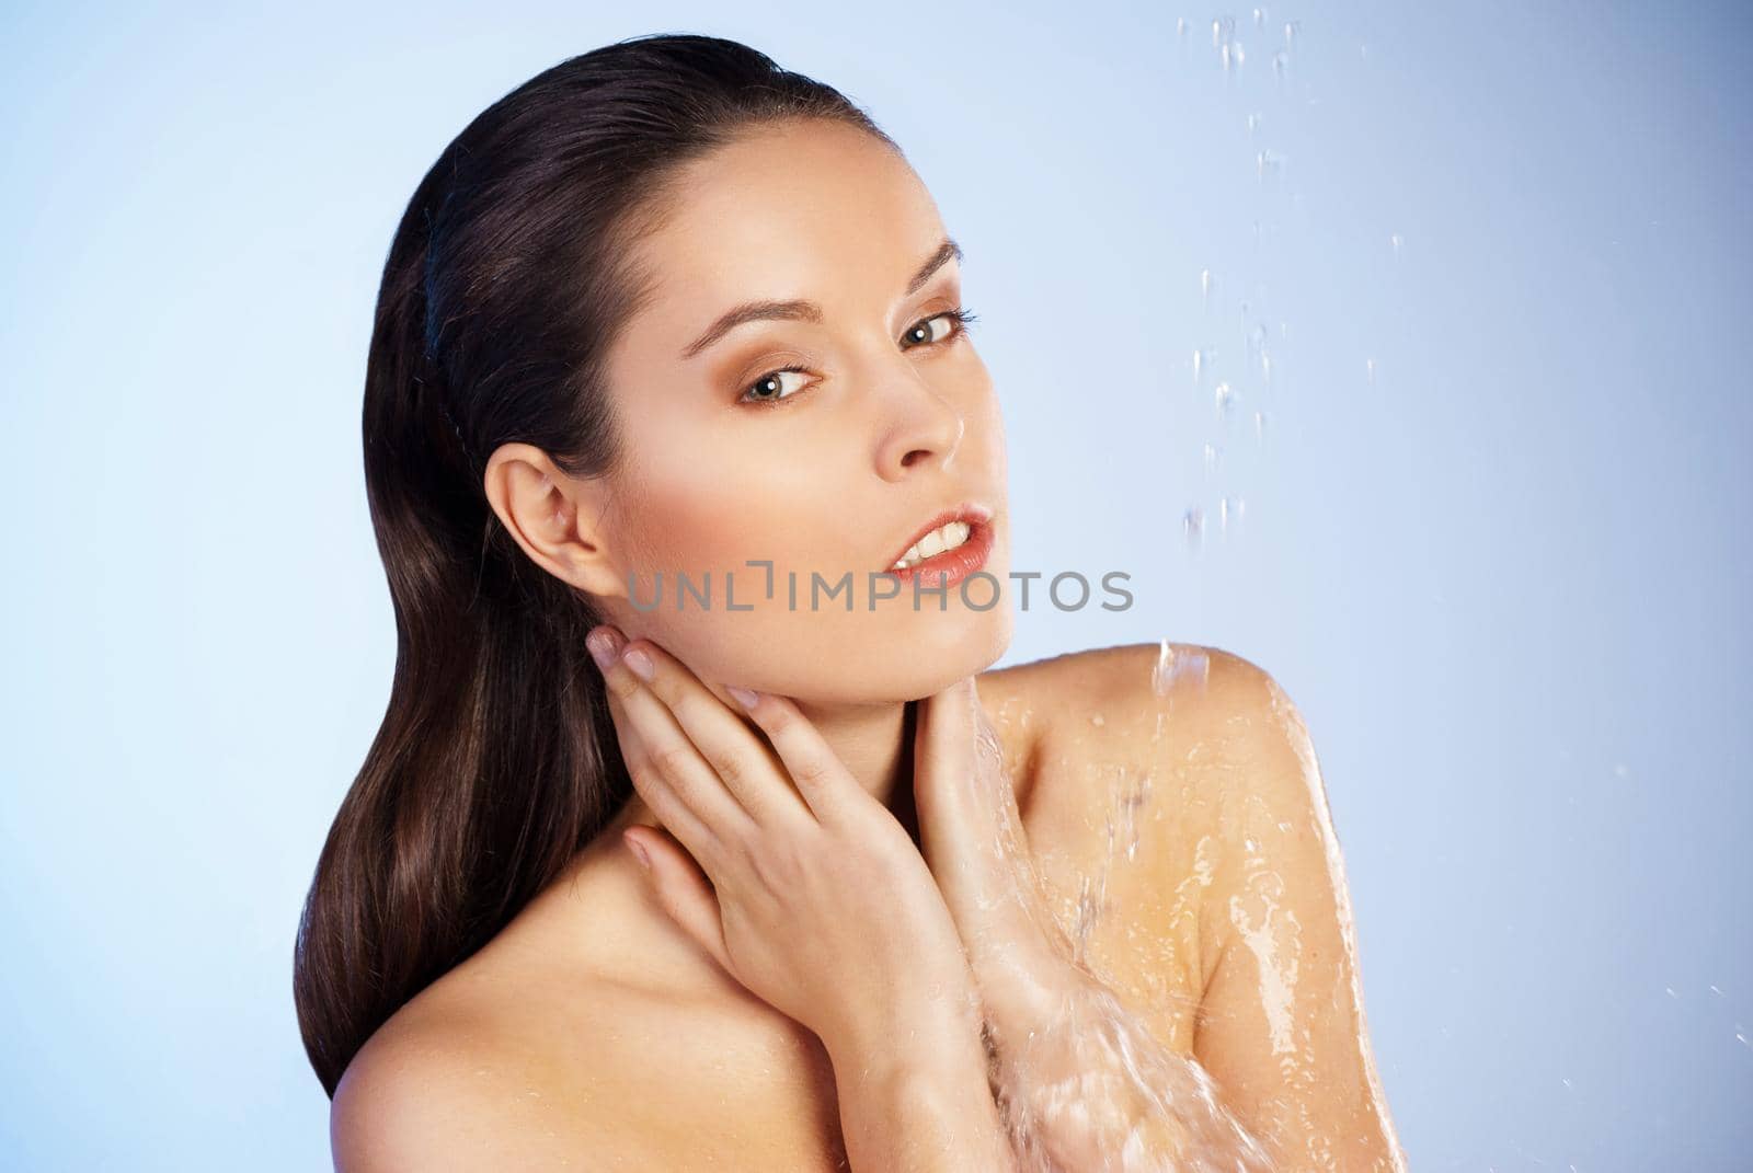
<svg viewBox="0 0 1753 1173">
<path fill-rule="evenodd" d="M 664 703 L 694 750 L 761 828 L 784 826 L 810 815 L 791 786 L 780 759 L 761 736 L 720 701 L 680 659 L 650 640 L 631 640 L 628 650 L 650 658 L 645 687 Z"/>
</svg>

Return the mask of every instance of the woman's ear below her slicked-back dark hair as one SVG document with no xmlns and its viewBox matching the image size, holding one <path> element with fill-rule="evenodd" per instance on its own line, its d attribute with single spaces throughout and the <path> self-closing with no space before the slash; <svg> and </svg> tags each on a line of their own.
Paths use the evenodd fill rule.
<svg viewBox="0 0 1753 1173">
<path fill-rule="evenodd" d="M 538 566 L 589 594 L 628 593 L 601 524 L 607 479 L 570 477 L 533 444 L 501 444 L 482 479 L 500 524 Z"/>
</svg>

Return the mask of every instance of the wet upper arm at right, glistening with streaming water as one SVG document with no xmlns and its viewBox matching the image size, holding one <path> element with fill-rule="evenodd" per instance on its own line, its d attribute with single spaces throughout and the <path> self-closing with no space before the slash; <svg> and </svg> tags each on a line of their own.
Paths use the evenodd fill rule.
<svg viewBox="0 0 1753 1173">
<path fill-rule="evenodd" d="M 1218 652 L 1206 724 L 1218 863 L 1204 894 L 1194 1054 L 1288 1161 L 1402 1169 L 1364 1019 L 1345 864 L 1301 715 Z M 1236 719 L 1243 717 L 1243 719 Z"/>
</svg>

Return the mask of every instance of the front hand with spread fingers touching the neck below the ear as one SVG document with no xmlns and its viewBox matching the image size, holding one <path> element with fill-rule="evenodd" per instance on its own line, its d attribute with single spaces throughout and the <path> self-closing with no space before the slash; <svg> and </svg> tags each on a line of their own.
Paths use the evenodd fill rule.
<svg viewBox="0 0 1753 1173">
<path fill-rule="evenodd" d="M 978 1029 L 931 870 L 796 705 L 757 694 L 757 733 L 650 640 L 603 626 L 589 645 L 633 787 L 675 840 L 624 836 L 649 852 L 659 901 L 691 938 L 831 1054 L 866 1063 L 920 1013 Z M 640 654 L 649 680 L 631 666 Z"/>
</svg>

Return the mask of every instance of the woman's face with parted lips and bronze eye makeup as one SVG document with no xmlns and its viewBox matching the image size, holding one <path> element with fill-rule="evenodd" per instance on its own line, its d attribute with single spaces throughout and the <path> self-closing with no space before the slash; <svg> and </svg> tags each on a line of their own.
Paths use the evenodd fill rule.
<svg viewBox="0 0 1753 1173">
<path fill-rule="evenodd" d="M 1004 435 L 950 316 L 961 272 L 929 193 L 885 144 L 824 121 L 754 132 L 677 191 L 636 256 L 652 296 L 608 354 L 626 463 L 594 519 L 619 577 L 605 610 L 712 686 L 815 703 L 912 700 L 983 670 L 1013 628 Z M 750 302 L 819 316 L 713 330 Z M 962 503 L 992 510 L 990 580 L 915 607 L 912 582 L 875 579 Z M 750 565 L 766 561 L 771 579 Z"/>
</svg>

